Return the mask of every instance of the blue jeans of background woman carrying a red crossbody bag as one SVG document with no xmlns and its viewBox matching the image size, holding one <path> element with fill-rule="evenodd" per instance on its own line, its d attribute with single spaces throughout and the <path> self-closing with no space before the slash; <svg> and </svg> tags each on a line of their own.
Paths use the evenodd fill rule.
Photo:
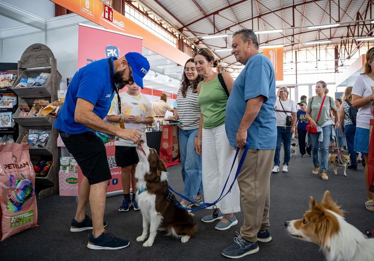
<svg viewBox="0 0 374 261">
<path fill-rule="evenodd" d="M 314 166 L 320 167 L 320 170 L 327 171 L 327 161 L 328 161 L 328 145 L 331 139 L 331 128 L 332 125 L 325 126 L 322 128 L 324 135 L 324 141 L 319 142 L 319 132 L 310 133 L 310 143 L 312 145 L 312 155 L 313 155 L 313 164 Z M 319 164 L 319 148 L 321 148 L 321 164 Z"/>
</svg>

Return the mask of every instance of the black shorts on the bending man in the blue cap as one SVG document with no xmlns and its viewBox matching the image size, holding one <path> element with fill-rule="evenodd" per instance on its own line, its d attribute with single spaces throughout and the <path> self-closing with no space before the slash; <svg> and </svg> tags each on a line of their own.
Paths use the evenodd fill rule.
<svg viewBox="0 0 374 261">
<path fill-rule="evenodd" d="M 90 185 L 112 178 L 108 165 L 107 150 L 104 142 L 95 132 L 67 134 L 60 131 L 60 136 Z"/>
</svg>

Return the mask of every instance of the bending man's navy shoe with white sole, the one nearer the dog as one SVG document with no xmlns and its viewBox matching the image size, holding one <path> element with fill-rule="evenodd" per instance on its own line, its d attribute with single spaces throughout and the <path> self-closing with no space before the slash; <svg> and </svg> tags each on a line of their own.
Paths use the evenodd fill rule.
<svg viewBox="0 0 374 261">
<path fill-rule="evenodd" d="M 116 238 L 113 234 L 109 233 L 107 230 L 104 230 L 104 232 L 97 238 L 94 238 L 92 233 L 89 234 L 87 247 L 89 249 L 116 250 L 125 248 L 129 245 L 130 242 L 128 240 Z"/>
</svg>

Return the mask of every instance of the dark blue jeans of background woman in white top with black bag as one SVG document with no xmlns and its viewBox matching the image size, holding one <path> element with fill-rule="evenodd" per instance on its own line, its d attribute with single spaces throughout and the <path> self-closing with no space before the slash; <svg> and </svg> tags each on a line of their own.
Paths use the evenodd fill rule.
<svg viewBox="0 0 374 261">
<path fill-rule="evenodd" d="M 277 147 L 275 149 L 275 155 L 274 155 L 274 165 L 279 166 L 281 161 L 279 161 L 279 158 L 281 157 L 281 143 L 283 140 L 283 149 L 284 149 L 284 158 L 283 158 L 283 165 L 286 164 L 288 166 L 289 159 L 291 158 L 291 138 L 292 133 L 291 127 L 279 127 L 277 126 Z"/>
</svg>

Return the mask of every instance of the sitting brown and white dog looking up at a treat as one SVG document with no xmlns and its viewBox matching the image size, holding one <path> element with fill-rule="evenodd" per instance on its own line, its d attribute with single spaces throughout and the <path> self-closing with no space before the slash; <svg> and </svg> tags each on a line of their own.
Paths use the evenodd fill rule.
<svg viewBox="0 0 374 261">
<path fill-rule="evenodd" d="M 140 141 L 137 146 L 139 163 L 135 171 L 138 179 L 136 200 L 143 216 L 143 233 L 137 238 L 138 242 L 149 238 L 143 246 L 152 246 L 158 230 L 167 230 L 168 235 L 181 238 L 186 243 L 197 231 L 193 215 L 187 210 L 178 208 L 174 196 L 169 192 L 165 183 L 168 182 L 165 165 L 159 155 Z"/>
</svg>

